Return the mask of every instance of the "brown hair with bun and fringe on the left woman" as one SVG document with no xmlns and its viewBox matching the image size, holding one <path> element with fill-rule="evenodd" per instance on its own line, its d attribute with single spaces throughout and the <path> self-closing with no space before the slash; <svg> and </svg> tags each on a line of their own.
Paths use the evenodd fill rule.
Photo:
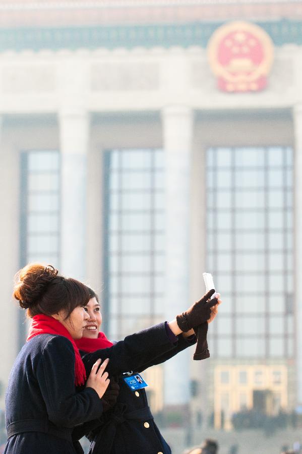
<svg viewBox="0 0 302 454">
<path fill-rule="evenodd" d="M 88 288 L 79 280 L 58 275 L 51 265 L 29 263 L 15 276 L 14 298 L 27 315 L 53 315 L 66 311 L 66 318 L 77 306 L 85 306 L 89 299 Z"/>
</svg>

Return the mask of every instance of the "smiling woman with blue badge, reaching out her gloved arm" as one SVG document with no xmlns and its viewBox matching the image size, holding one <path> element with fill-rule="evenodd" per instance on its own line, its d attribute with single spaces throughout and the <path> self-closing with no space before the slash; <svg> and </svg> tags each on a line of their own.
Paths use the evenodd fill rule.
<svg viewBox="0 0 302 454">
<path fill-rule="evenodd" d="M 87 436 L 92 441 L 93 454 L 170 454 L 171 449 L 156 426 L 144 388 L 131 389 L 127 378 L 136 378 L 138 373 L 155 364 L 163 363 L 178 352 L 196 343 L 199 335 L 199 350 L 196 359 L 209 356 L 206 335 L 208 322 L 212 321 L 221 303 L 209 301 L 214 290 L 208 292 L 186 312 L 176 319 L 151 326 L 124 341 L 113 345 L 100 331 L 102 315 L 97 294 L 88 288 L 90 300 L 85 306 L 89 315 L 83 337 L 76 341 L 86 368 L 96 357 L 108 357 L 108 372 L 119 385 L 119 394 L 114 407 L 103 415 L 102 425 L 91 423 Z M 180 326 L 180 327 L 179 327 Z M 194 329 L 193 329 L 194 328 Z M 140 376 L 139 376 L 140 377 Z M 126 380 L 125 380 L 126 378 Z M 142 380 L 138 380 L 138 383 Z M 89 427 L 89 424 L 87 424 Z"/>
</svg>

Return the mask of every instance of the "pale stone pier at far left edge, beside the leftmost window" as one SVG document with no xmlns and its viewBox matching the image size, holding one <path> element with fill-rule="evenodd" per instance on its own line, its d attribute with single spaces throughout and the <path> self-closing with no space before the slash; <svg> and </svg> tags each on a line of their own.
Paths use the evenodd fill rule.
<svg viewBox="0 0 302 454">
<path fill-rule="evenodd" d="M 1 216 L 0 248 L 3 257 L 0 285 L 3 314 L 6 323 L 3 323 L 0 332 L 0 342 L 4 348 L 1 353 L 0 367 L 0 408 L 4 409 L 5 390 L 8 378 L 19 352 L 19 344 L 24 343 L 24 338 L 19 336 L 19 316 L 23 311 L 18 308 L 17 301 L 13 299 L 13 277 L 20 268 L 19 261 L 19 229 L 20 229 L 20 179 L 16 178 L 20 172 L 20 155 L 16 144 L 12 140 L 14 129 L 3 125 L 0 117 L 0 199 Z"/>
</svg>

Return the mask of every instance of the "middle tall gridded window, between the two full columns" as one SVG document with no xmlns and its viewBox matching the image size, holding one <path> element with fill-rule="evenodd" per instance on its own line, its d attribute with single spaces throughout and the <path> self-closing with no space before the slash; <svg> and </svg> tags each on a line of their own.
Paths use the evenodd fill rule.
<svg viewBox="0 0 302 454">
<path fill-rule="evenodd" d="M 118 339 L 162 317 L 164 162 L 158 149 L 105 152 L 105 327 Z"/>
</svg>

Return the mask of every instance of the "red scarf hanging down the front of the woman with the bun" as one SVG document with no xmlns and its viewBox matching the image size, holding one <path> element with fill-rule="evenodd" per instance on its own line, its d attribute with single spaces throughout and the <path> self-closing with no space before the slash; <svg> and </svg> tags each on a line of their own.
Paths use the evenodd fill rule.
<svg viewBox="0 0 302 454">
<path fill-rule="evenodd" d="M 38 314 L 32 318 L 32 325 L 26 341 L 39 334 L 58 334 L 65 336 L 72 343 L 75 351 L 75 385 L 81 386 L 86 380 L 85 366 L 76 343 L 65 326 L 48 315 Z"/>
</svg>

